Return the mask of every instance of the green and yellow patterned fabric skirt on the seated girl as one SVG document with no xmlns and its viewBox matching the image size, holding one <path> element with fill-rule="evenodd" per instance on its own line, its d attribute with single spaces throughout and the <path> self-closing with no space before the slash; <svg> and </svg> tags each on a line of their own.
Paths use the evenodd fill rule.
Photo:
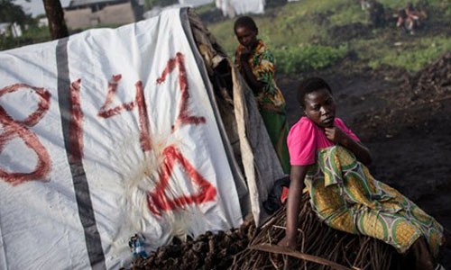
<svg viewBox="0 0 451 270">
<path fill-rule="evenodd" d="M 373 178 L 354 154 L 341 146 L 318 151 L 305 183 L 312 209 L 334 229 L 378 238 L 404 253 L 419 237 L 432 256 L 444 243 L 443 227 L 415 203 Z"/>
</svg>

